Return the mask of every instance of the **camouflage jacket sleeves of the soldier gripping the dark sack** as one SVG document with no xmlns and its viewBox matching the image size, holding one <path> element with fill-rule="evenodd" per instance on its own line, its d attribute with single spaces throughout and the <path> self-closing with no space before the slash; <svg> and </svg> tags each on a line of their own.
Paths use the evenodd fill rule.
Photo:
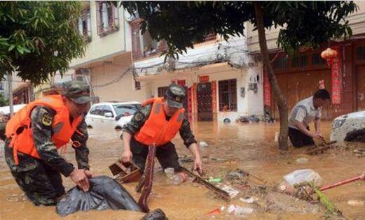
<svg viewBox="0 0 365 220">
<path fill-rule="evenodd" d="M 74 166 L 71 163 L 65 161 L 57 152 L 57 148 L 53 143 L 53 128 L 50 126 L 55 117 L 56 112 L 50 108 L 44 106 L 36 106 L 31 113 L 32 119 L 32 131 L 34 145 L 41 159 L 45 161 L 50 167 L 54 168 L 58 172 L 62 173 L 65 177 L 68 177 L 74 170 Z M 44 123 L 46 117 L 48 123 Z M 88 169 L 88 154 L 89 149 L 86 147 L 86 141 L 88 140 L 88 130 L 86 128 L 85 119 L 78 125 L 78 131 L 75 132 L 71 140 L 80 142 L 79 147 L 73 147 L 76 153 L 76 161 L 79 169 Z"/>
</svg>

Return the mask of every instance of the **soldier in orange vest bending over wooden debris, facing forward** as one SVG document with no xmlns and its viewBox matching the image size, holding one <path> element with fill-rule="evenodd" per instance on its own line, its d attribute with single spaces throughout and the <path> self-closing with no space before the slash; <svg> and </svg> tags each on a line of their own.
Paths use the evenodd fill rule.
<svg viewBox="0 0 365 220">
<path fill-rule="evenodd" d="M 151 98 L 135 112 L 131 121 L 123 126 L 123 161 L 133 161 L 144 170 L 149 145 L 156 144 L 156 157 L 163 169 L 179 170 L 179 157 L 172 138 L 180 133 L 184 145 L 195 156 L 194 169 L 202 172 L 199 147 L 184 114 L 183 103 L 186 89 L 172 84 L 165 96 Z"/>
</svg>

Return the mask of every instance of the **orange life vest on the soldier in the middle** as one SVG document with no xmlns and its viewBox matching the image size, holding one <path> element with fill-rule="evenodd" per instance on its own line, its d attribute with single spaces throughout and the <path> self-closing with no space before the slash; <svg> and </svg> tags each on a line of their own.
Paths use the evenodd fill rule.
<svg viewBox="0 0 365 220">
<path fill-rule="evenodd" d="M 170 120 L 166 120 L 163 110 L 163 98 L 151 98 L 142 105 L 153 103 L 149 118 L 142 128 L 135 133 L 135 140 L 144 145 L 165 145 L 179 131 L 184 119 L 184 108 L 177 110 Z"/>
</svg>

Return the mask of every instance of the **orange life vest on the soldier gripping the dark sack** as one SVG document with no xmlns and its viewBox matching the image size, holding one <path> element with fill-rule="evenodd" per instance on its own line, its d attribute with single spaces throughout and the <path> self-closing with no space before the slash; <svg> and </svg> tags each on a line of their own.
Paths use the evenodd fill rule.
<svg viewBox="0 0 365 220">
<path fill-rule="evenodd" d="M 32 101 L 22 109 L 20 109 L 6 124 L 6 138 L 11 138 L 9 147 L 13 147 L 13 156 L 15 164 L 18 165 L 18 154 L 17 152 L 22 152 L 30 156 L 34 156 L 41 159 L 36 147 L 34 147 L 33 135 L 31 129 L 31 119 L 30 114 L 34 107 L 37 105 L 46 106 L 55 110 L 56 115 L 53 118 L 51 126 L 53 127 L 52 140 L 55 146 L 58 148 L 66 145 L 71 136 L 77 129 L 78 124 L 80 124 L 83 119 L 82 116 L 74 119 L 72 124 L 69 120 L 69 109 L 62 101 L 62 96 L 51 95 L 41 98 L 36 101 Z"/>
</svg>

